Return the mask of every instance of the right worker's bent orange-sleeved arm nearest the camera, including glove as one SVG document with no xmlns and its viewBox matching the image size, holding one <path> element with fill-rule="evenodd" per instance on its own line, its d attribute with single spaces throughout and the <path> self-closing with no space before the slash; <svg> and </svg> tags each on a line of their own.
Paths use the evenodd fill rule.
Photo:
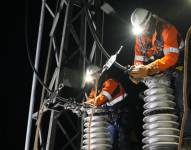
<svg viewBox="0 0 191 150">
<path fill-rule="evenodd" d="M 135 67 L 130 75 L 133 78 L 142 78 L 153 75 L 174 66 L 179 59 L 178 32 L 173 26 L 167 26 L 162 32 L 164 42 L 164 57 L 148 65 Z"/>
</svg>

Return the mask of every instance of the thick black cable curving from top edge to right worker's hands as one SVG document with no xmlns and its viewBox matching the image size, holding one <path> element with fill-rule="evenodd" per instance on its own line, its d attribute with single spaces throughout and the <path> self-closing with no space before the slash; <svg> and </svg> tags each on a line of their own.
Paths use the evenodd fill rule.
<svg viewBox="0 0 191 150">
<path fill-rule="evenodd" d="M 99 49 L 103 52 L 103 54 L 107 57 L 107 58 L 110 58 L 110 55 L 107 53 L 107 51 L 104 49 L 104 47 L 102 46 L 101 42 L 99 41 L 99 38 L 97 36 L 97 33 L 94 29 L 94 26 L 92 24 L 92 19 L 91 19 L 91 16 L 89 14 L 89 10 L 88 10 L 88 7 L 87 7 L 87 2 L 86 0 L 83 0 L 83 3 L 84 3 L 84 10 L 85 10 L 85 15 L 86 15 L 86 18 L 87 18 L 87 21 L 88 21 L 88 26 L 90 28 L 90 31 L 92 33 L 92 36 L 94 38 L 94 40 L 96 41 Z M 114 65 L 116 67 L 118 67 L 119 69 L 121 70 L 126 70 L 126 67 L 125 66 L 122 66 L 121 64 L 117 63 L 116 61 L 114 62 Z"/>
</svg>

